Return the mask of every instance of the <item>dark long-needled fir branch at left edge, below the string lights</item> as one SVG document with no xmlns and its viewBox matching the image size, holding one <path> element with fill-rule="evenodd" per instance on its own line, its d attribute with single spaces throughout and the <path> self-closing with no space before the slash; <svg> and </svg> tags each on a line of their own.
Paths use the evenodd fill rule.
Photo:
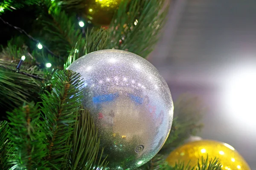
<svg viewBox="0 0 256 170">
<path fill-rule="evenodd" d="M 41 80 L 15 72 L 16 66 L 14 63 L 0 60 L 0 107 L 12 108 L 25 101 L 36 100 L 40 91 Z M 36 68 L 30 68 L 27 73 L 32 72 L 36 72 Z"/>
</svg>

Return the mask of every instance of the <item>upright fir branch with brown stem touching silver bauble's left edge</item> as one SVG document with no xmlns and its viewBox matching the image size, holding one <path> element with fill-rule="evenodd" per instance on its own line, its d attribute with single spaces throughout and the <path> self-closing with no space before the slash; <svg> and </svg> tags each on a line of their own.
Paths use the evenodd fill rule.
<svg viewBox="0 0 256 170">
<path fill-rule="evenodd" d="M 47 134 L 51 170 L 67 167 L 68 155 L 72 145 L 68 139 L 73 133 L 77 111 L 81 104 L 80 75 L 70 70 L 58 71 L 54 75 L 52 94 L 42 95 L 41 114 Z"/>
</svg>

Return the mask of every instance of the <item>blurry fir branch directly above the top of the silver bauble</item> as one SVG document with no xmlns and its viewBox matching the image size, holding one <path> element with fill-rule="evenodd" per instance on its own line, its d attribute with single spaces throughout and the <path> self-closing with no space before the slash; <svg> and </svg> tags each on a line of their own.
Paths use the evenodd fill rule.
<svg viewBox="0 0 256 170">
<path fill-rule="evenodd" d="M 168 9 L 166 0 L 123 1 L 110 24 L 108 49 L 126 50 L 146 58 L 157 43 Z"/>
</svg>

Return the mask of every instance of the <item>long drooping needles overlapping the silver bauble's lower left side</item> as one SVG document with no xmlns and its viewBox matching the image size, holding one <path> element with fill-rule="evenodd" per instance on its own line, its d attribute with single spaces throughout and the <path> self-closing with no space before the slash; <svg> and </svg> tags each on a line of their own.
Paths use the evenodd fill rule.
<svg viewBox="0 0 256 170">
<path fill-rule="evenodd" d="M 100 151 L 99 159 L 99 138 L 93 118 L 89 112 L 82 107 L 79 116 L 76 118 L 76 125 L 72 137 L 72 150 L 70 152 L 70 164 L 68 170 L 92 170 L 94 167 L 105 168 L 106 161 L 102 159 L 103 150 Z"/>
</svg>

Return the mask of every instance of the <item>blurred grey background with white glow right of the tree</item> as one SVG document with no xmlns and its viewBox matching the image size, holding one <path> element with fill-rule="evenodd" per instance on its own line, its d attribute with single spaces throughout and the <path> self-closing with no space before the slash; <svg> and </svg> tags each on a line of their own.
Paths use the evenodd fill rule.
<svg viewBox="0 0 256 170">
<path fill-rule="evenodd" d="M 175 0 L 148 58 L 174 101 L 208 108 L 198 136 L 226 142 L 256 170 L 256 0 Z"/>
</svg>

